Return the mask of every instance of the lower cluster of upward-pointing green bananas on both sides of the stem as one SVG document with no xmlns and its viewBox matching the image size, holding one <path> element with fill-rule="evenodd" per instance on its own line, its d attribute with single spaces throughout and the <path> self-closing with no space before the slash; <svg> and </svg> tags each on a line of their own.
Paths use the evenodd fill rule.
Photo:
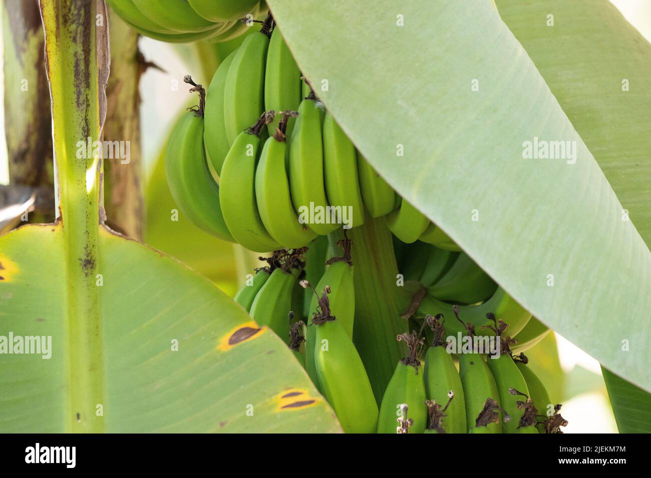
<svg viewBox="0 0 651 478">
<path fill-rule="evenodd" d="M 305 247 L 277 250 L 270 258 L 260 258 L 268 265 L 256 270 L 256 276 L 240 289 L 235 300 L 258 324 L 269 326 L 284 339 L 332 406 L 345 432 L 561 432 L 567 424 L 559 413 L 561 406 L 551 405 L 544 385 L 527 366 L 527 357 L 511 351 L 517 340 L 506 336 L 509 325 L 495 319 L 493 313 L 485 313 L 482 334 L 499 337 L 497 343 L 501 347 L 492 351 L 494 356 L 475 347 L 457 354 L 460 351 L 451 350 L 448 342 L 452 331 L 472 339 L 479 334 L 479 322 L 477 315 L 470 313 L 473 306 L 452 306 L 447 302 L 441 303 L 446 310 L 449 308 L 448 317 L 452 320 L 445 323 L 441 312 L 419 319 L 416 312 L 413 315 L 419 330 L 398 336 L 398 341 L 406 343 L 408 353 L 396 364 L 378 407 L 353 342 L 352 241 L 342 239 L 338 245 L 342 256 L 326 262 L 327 269 L 322 269 L 320 276 L 317 274 L 316 287 L 301 279 L 306 275 L 316 279 L 314 271 L 306 270 L 306 257 L 318 261 L 319 256 L 309 256 Z M 456 261 L 467 262 L 461 254 L 453 254 L 458 256 Z M 320 258 L 324 259 L 323 251 Z M 448 272 L 454 270 L 454 263 Z M 467 265 L 463 270 L 474 271 Z M 445 277 L 445 273 L 441 276 Z M 472 277 L 469 274 L 468 281 Z M 434 280 L 434 284 L 440 280 Z M 305 288 L 307 302 L 299 286 Z M 508 295 L 499 297 L 499 303 L 493 302 L 495 310 L 514 319 L 514 324 L 523 330 L 531 315 L 522 313 Z M 304 302 L 309 306 L 304 307 Z M 423 302 L 418 310 L 439 310 L 436 304 Z M 469 322 L 460 319 L 462 313 L 468 313 L 464 319 Z"/>
</svg>

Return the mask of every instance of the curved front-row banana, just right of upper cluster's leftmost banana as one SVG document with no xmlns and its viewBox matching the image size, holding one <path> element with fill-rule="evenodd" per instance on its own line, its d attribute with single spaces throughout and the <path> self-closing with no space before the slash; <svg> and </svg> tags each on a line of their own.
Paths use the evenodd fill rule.
<svg viewBox="0 0 651 478">
<path fill-rule="evenodd" d="M 255 166 L 267 117 L 262 114 L 254 126 L 238 135 L 226 155 L 219 181 L 221 210 L 231 235 L 256 252 L 283 248 L 264 228 L 255 197 Z"/>
</svg>

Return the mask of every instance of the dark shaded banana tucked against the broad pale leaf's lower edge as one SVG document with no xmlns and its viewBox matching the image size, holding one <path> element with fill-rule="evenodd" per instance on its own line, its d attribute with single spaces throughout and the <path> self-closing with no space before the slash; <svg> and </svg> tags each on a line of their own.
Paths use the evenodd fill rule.
<svg viewBox="0 0 651 478">
<path fill-rule="evenodd" d="M 497 284 L 465 252 L 461 252 L 450 270 L 428 293 L 439 300 L 457 304 L 475 304 L 489 299 L 497 290 Z"/>
</svg>

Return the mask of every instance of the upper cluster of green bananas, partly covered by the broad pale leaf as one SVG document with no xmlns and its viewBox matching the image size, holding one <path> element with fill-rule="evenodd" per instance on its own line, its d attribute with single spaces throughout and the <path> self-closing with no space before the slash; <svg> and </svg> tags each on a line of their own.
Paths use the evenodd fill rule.
<svg viewBox="0 0 651 478">
<path fill-rule="evenodd" d="M 458 250 L 421 212 L 402 200 L 368 164 L 294 61 L 273 18 L 220 64 L 192 114 L 202 116 L 204 153 L 177 128 L 168 148 L 167 180 L 182 212 L 209 233 L 256 252 L 299 248 L 317 235 L 386 217 L 400 241 L 417 239 Z M 187 114 L 186 114 L 187 116 Z M 187 122 L 182 118 L 179 124 Z M 266 127 L 265 127 L 266 126 Z M 197 138 L 193 137 L 196 141 Z M 195 178 L 208 161 L 219 176 Z M 201 172 L 203 176 L 203 172 Z M 192 181 L 202 186 L 178 185 Z M 210 196 L 204 194 L 212 189 Z M 203 206 L 198 206 L 202 203 Z M 208 206 L 209 207 L 206 207 Z M 208 217 L 190 209 L 199 207 Z"/>
</svg>

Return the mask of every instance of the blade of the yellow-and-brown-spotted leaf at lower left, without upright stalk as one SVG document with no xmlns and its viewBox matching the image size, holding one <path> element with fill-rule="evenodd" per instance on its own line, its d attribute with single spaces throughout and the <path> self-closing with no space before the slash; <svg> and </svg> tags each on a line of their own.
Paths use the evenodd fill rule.
<svg viewBox="0 0 651 478">
<path fill-rule="evenodd" d="M 339 431 L 281 339 L 145 245 L 100 228 L 99 314 L 70 315 L 65 240 L 61 224 L 0 239 L 0 336 L 51 337 L 49 359 L 0 356 L 0 431 Z M 87 323 L 92 350 L 74 332 Z M 77 371 L 92 389 L 73 386 Z"/>
</svg>

